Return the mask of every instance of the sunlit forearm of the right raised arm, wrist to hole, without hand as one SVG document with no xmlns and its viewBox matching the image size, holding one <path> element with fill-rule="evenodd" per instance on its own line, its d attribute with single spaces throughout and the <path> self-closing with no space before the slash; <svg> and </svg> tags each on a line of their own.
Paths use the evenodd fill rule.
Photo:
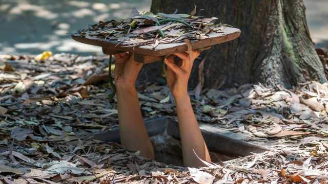
<svg viewBox="0 0 328 184">
<path fill-rule="evenodd" d="M 210 156 L 192 109 L 190 98 L 186 94 L 174 99 L 181 136 L 183 163 L 188 167 L 203 166 L 204 164 L 197 158 L 193 150 L 202 160 L 210 160 Z"/>
</svg>

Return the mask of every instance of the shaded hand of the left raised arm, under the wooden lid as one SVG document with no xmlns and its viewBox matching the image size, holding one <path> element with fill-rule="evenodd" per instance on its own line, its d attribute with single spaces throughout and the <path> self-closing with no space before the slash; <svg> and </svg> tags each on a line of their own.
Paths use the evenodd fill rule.
<svg viewBox="0 0 328 184">
<path fill-rule="evenodd" d="M 135 85 L 142 63 L 134 61 L 133 56 L 133 53 L 114 54 L 114 81 L 116 87 Z"/>
</svg>

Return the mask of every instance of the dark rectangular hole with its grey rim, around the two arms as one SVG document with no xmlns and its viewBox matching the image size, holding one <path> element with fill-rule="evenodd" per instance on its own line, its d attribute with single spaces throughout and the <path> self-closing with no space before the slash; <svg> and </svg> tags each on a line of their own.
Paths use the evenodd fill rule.
<svg viewBox="0 0 328 184">
<path fill-rule="evenodd" d="M 167 165 L 183 166 L 178 122 L 167 117 L 161 117 L 145 121 L 145 126 L 153 144 L 155 160 Z M 208 130 L 209 127 L 206 124 L 200 124 L 200 131 L 214 163 L 268 151 L 268 149 L 260 146 L 238 140 L 247 137 L 246 135 Z M 120 143 L 118 127 L 89 136 L 93 136 L 95 140 Z"/>
</svg>

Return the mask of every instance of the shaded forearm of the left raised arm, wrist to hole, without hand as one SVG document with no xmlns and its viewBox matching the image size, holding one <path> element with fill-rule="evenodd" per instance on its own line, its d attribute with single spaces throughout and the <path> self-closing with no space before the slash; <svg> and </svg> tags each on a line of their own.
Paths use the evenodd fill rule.
<svg viewBox="0 0 328 184">
<path fill-rule="evenodd" d="M 142 120 L 138 94 L 133 85 L 117 85 L 117 110 L 121 144 L 140 150 L 140 155 L 150 155 L 154 159 L 154 151 L 147 130 Z"/>
</svg>

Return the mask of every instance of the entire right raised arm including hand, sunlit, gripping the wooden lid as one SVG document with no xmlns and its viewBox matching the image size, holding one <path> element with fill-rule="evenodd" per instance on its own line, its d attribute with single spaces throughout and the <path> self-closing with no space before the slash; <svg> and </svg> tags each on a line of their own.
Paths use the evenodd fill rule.
<svg viewBox="0 0 328 184">
<path fill-rule="evenodd" d="M 183 163 L 188 167 L 198 167 L 204 166 L 204 164 L 197 158 L 195 153 L 202 160 L 211 159 L 201 135 L 187 90 L 193 61 L 199 55 L 197 50 L 192 52 L 192 61 L 190 61 L 188 53 L 177 53 L 175 55 L 181 58 L 177 65 L 174 63 L 174 58 L 166 59 L 165 63 L 168 65 L 167 83 L 176 104 Z"/>
</svg>

